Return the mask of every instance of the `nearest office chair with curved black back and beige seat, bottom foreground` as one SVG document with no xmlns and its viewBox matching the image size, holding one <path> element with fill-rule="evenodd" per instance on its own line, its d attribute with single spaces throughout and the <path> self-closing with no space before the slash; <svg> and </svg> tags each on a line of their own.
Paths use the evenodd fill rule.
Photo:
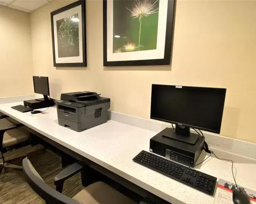
<svg viewBox="0 0 256 204">
<path fill-rule="evenodd" d="M 25 172 L 25 180 L 47 204 L 135 204 L 132 199 L 101 181 L 85 187 L 73 198 L 64 196 L 61 193 L 64 181 L 77 174 L 83 168 L 78 163 L 68 166 L 55 176 L 56 190 L 44 182 L 28 158 L 23 159 L 22 165 Z"/>
</svg>

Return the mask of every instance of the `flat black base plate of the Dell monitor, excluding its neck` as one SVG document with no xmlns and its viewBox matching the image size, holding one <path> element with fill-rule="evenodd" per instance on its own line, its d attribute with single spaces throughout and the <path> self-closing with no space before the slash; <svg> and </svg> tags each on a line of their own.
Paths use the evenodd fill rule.
<svg viewBox="0 0 256 204">
<path fill-rule="evenodd" d="M 177 125 L 176 125 L 176 128 L 177 128 Z M 194 134 L 192 132 L 190 132 L 189 136 L 178 135 L 177 131 L 172 129 L 172 128 L 165 128 L 162 131 L 162 136 L 170 138 L 172 140 L 177 140 L 177 141 L 185 142 L 185 143 L 188 143 L 190 145 L 196 144 L 196 142 L 197 142 L 197 140 L 199 138 L 198 134 Z"/>
</svg>

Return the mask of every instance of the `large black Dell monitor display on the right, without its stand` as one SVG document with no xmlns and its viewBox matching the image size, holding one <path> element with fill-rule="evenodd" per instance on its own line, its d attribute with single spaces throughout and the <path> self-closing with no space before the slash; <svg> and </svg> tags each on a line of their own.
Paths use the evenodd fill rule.
<svg viewBox="0 0 256 204">
<path fill-rule="evenodd" d="M 226 89 L 152 85 L 150 118 L 220 133 Z"/>
</svg>

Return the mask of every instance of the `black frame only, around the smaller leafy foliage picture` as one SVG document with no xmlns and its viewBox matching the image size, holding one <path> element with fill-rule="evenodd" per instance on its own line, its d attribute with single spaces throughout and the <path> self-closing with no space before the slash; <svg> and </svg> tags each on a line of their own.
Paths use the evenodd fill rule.
<svg viewBox="0 0 256 204">
<path fill-rule="evenodd" d="M 81 25 L 82 25 L 82 62 L 74 62 L 74 63 L 56 63 L 56 55 L 55 55 L 55 41 L 54 41 L 54 22 L 53 16 L 59 13 L 65 12 L 74 8 L 76 6 L 81 5 Z M 85 0 L 79 0 L 58 10 L 55 10 L 50 13 L 51 17 L 51 28 L 52 28 L 52 47 L 53 47 L 53 66 L 54 67 L 86 67 L 87 66 L 87 58 L 86 58 L 86 5 Z"/>
</svg>

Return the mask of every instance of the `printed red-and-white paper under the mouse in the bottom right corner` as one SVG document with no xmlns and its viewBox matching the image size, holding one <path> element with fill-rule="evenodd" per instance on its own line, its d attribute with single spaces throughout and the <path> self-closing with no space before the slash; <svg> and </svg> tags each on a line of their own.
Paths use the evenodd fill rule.
<svg viewBox="0 0 256 204">
<path fill-rule="evenodd" d="M 214 204 L 233 204 L 233 189 L 235 184 L 219 179 L 217 190 L 215 193 Z M 238 186 L 239 190 L 245 191 L 251 200 L 251 204 L 256 204 L 256 192 L 242 186 Z"/>
</svg>

